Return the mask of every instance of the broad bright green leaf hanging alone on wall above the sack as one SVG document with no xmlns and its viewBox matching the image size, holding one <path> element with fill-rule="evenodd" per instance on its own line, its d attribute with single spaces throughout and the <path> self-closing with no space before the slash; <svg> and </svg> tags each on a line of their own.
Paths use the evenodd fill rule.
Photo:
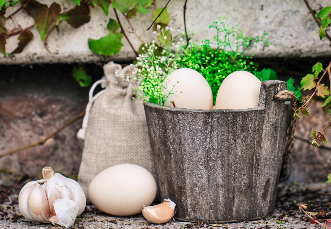
<svg viewBox="0 0 331 229">
<path fill-rule="evenodd" d="M 98 40 L 88 39 L 88 47 L 95 54 L 115 55 L 123 46 L 121 43 L 122 37 L 121 33 L 109 33 Z"/>
</svg>

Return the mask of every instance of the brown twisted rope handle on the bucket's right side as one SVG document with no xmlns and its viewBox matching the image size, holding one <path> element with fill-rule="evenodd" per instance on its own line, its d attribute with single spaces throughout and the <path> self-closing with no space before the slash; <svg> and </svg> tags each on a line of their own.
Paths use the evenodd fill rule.
<svg viewBox="0 0 331 229">
<path fill-rule="evenodd" d="M 279 175 L 279 180 L 280 181 L 285 181 L 289 178 L 289 175 L 291 171 L 288 169 L 288 162 L 291 157 L 291 152 L 292 152 L 292 147 L 294 143 L 294 132 L 295 132 L 295 126 L 297 124 L 297 120 L 294 120 L 294 113 L 297 110 L 297 97 L 295 96 L 295 93 L 289 91 L 289 90 L 284 90 L 278 92 L 275 96 L 274 99 L 276 100 L 285 100 L 289 99 L 291 102 L 291 123 L 290 127 L 288 130 L 288 141 L 286 144 L 285 151 L 283 153 L 283 162 L 282 162 L 282 167 L 280 170 L 280 175 Z"/>
</svg>

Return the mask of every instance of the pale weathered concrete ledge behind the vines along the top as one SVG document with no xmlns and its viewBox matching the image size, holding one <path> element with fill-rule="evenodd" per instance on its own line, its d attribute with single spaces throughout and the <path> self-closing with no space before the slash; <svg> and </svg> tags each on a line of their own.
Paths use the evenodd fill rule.
<svg viewBox="0 0 331 229">
<path fill-rule="evenodd" d="M 54 0 L 39 0 L 43 4 L 50 5 Z M 63 10 L 70 9 L 74 3 L 70 0 L 57 0 Z M 309 0 L 313 10 L 329 6 L 328 0 Z M 157 6 L 163 7 L 166 0 L 157 0 Z M 183 23 L 184 0 L 171 1 L 168 5 L 170 15 L 169 26 L 184 29 Z M 14 12 L 7 10 L 7 15 Z M 131 22 L 137 33 L 142 36 L 144 42 L 153 40 L 152 31 L 146 29 L 152 23 L 152 6 L 148 8 L 148 14 L 138 13 Z M 24 49 L 23 53 L 11 57 L 3 57 L 0 54 L 0 64 L 27 64 L 27 63 L 52 63 L 52 62 L 91 62 L 91 61 L 124 61 L 134 59 L 134 53 L 125 38 L 122 38 L 120 53 L 112 57 L 95 55 L 88 48 L 88 38 L 99 39 L 108 34 L 106 29 L 108 18 L 100 7 L 90 8 L 91 20 L 79 28 L 72 28 L 66 22 L 60 24 L 59 32 L 56 30 L 48 38 L 48 46 L 52 53 L 48 53 L 43 47 L 40 35 L 35 28 L 31 29 L 34 39 Z M 109 17 L 115 18 L 114 12 L 109 11 Z M 131 31 L 129 24 L 122 15 L 120 20 L 132 41 L 138 49 L 141 42 Z M 187 2 L 187 28 L 194 31 L 193 40 L 212 39 L 214 30 L 209 25 L 217 20 L 217 16 L 229 17 L 231 24 L 239 24 L 244 35 L 257 36 L 269 33 L 270 45 L 255 44 L 246 54 L 254 53 L 255 57 L 326 57 L 331 56 L 327 38 L 322 41 L 318 37 L 318 26 L 303 0 L 188 0 Z M 33 19 L 20 12 L 13 19 L 16 24 L 26 28 L 33 24 Z M 14 23 L 7 21 L 6 26 L 13 28 Z M 17 36 L 8 40 L 7 53 L 13 51 L 18 44 Z"/>
</svg>

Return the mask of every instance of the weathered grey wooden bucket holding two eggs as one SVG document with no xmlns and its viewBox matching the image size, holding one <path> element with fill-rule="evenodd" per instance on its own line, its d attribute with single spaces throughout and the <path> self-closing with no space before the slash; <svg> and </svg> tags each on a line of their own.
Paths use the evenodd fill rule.
<svg viewBox="0 0 331 229">
<path fill-rule="evenodd" d="M 290 103 L 274 100 L 286 82 L 261 83 L 259 106 L 195 110 L 144 103 L 161 198 L 175 218 L 256 220 L 274 211 Z"/>
</svg>

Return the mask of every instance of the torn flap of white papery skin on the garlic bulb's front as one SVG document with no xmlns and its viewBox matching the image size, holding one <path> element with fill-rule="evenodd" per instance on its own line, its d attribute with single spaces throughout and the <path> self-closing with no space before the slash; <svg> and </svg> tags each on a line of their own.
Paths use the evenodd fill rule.
<svg viewBox="0 0 331 229">
<path fill-rule="evenodd" d="M 54 202 L 54 209 L 58 221 L 55 223 L 66 228 L 71 227 L 75 223 L 79 207 L 76 202 L 68 199 L 57 199 Z"/>
</svg>

